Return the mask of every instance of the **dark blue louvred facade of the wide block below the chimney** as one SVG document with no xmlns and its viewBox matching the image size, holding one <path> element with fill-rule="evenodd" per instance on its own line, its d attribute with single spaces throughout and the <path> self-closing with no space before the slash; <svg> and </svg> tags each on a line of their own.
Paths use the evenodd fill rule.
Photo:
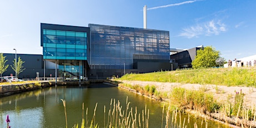
<svg viewBox="0 0 256 128">
<path fill-rule="evenodd" d="M 134 60 L 170 60 L 169 31 L 89 24 L 91 69 L 132 69 Z"/>
</svg>

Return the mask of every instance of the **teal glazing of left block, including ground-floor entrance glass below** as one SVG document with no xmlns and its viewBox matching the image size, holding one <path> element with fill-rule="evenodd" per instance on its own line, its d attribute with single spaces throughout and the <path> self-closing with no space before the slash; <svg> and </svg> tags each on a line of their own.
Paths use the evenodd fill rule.
<svg viewBox="0 0 256 128">
<path fill-rule="evenodd" d="M 58 61 L 58 76 L 77 79 L 85 76 L 87 32 L 43 29 L 43 59 Z"/>
</svg>

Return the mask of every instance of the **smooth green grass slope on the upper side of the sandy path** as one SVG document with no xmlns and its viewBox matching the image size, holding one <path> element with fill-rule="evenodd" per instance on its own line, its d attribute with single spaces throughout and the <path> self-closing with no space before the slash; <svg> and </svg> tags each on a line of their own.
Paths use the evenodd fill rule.
<svg viewBox="0 0 256 128">
<path fill-rule="evenodd" d="M 118 80 L 199 83 L 202 85 L 256 87 L 256 67 L 207 68 L 196 70 L 160 71 L 126 74 Z"/>
</svg>

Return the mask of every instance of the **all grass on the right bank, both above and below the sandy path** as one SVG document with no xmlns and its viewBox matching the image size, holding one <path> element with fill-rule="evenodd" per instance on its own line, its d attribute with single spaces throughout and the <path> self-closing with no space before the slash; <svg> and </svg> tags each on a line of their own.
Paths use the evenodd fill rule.
<svg viewBox="0 0 256 128">
<path fill-rule="evenodd" d="M 218 85 L 225 86 L 247 86 L 252 87 L 249 93 L 254 92 L 256 87 L 256 67 L 242 68 L 208 68 L 181 71 L 161 71 L 144 74 L 126 74 L 118 80 L 131 81 L 154 81 L 154 82 L 178 82 L 178 83 L 199 83 L 199 90 L 186 90 L 185 88 L 174 87 L 170 92 L 159 92 L 156 89 L 150 93 L 150 85 L 140 87 L 121 83 L 121 86 L 134 88 L 136 92 L 142 90 L 142 94 L 150 93 L 151 97 L 157 99 L 170 99 L 171 105 L 179 110 L 196 110 L 206 115 L 216 114 L 221 121 L 241 127 L 250 127 L 255 121 L 255 106 L 244 105 L 244 93 L 242 90 L 228 96 L 227 102 L 217 102 L 208 91 L 207 84 L 213 86 L 216 93 L 225 93 Z M 232 99 L 234 97 L 234 99 Z M 214 115 L 213 115 L 214 116 Z M 255 127 L 255 126 L 254 126 Z"/>
</svg>

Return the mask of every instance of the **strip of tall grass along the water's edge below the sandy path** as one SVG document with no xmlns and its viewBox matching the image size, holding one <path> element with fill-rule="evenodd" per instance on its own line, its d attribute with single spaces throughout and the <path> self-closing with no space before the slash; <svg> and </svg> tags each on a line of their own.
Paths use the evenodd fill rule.
<svg viewBox="0 0 256 128">
<path fill-rule="evenodd" d="M 214 119 L 218 119 L 229 124 L 243 127 L 256 127 L 256 124 L 252 122 L 255 121 L 256 117 L 255 106 L 244 106 L 244 93 L 242 90 L 234 93 L 234 99 L 228 99 L 227 102 L 217 102 L 214 100 L 212 93 L 205 93 L 205 88 L 201 88 L 199 90 L 186 90 L 185 88 L 174 87 L 168 93 L 154 90 L 154 93 L 152 94 L 150 93 L 150 88 L 154 88 L 154 85 L 146 85 L 142 87 L 139 85 L 122 83 L 119 84 L 119 86 L 133 88 L 136 92 L 141 92 L 144 95 L 150 94 L 150 97 L 155 97 L 157 100 L 169 99 L 171 108 L 174 108 L 173 110 L 177 109 L 183 112 L 188 109 L 196 110 L 202 114 L 210 115 Z M 231 94 L 230 96 L 233 97 Z M 168 112 L 166 114 L 168 114 Z M 171 121 L 167 122 L 169 123 Z M 169 127 L 171 126 L 173 125 L 169 125 Z"/>
</svg>

